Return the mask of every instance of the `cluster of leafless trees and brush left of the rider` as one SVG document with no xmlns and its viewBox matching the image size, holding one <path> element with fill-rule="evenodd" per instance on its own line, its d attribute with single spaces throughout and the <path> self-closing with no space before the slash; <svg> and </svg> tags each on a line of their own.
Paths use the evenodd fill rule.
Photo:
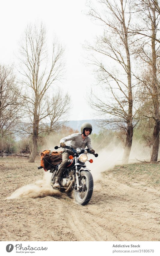
<svg viewBox="0 0 160 256">
<path fill-rule="evenodd" d="M 63 78 L 63 53 L 56 40 L 48 53 L 44 24 L 30 24 L 20 42 L 20 76 L 14 76 L 12 67 L 0 66 L 0 153 L 30 153 L 33 163 L 43 138 L 66 122 L 70 97 L 56 85 Z"/>
</svg>

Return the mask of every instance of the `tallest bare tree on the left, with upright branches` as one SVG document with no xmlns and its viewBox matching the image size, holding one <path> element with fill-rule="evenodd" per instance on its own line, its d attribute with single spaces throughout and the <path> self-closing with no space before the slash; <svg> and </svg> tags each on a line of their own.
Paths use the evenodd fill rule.
<svg viewBox="0 0 160 256">
<path fill-rule="evenodd" d="M 56 41 L 53 42 L 52 52 L 47 55 L 47 35 L 43 24 L 29 25 L 21 43 L 21 74 L 24 92 L 25 112 L 32 123 L 32 152 L 29 162 L 35 161 L 38 147 L 40 124 L 52 115 L 53 103 L 50 102 L 51 86 L 62 78 L 64 49 Z M 50 61 L 48 60 L 50 59 Z M 48 95 L 47 95 L 48 93 Z M 23 127 L 23 130 L 24 127 Z"/>
</svg>

